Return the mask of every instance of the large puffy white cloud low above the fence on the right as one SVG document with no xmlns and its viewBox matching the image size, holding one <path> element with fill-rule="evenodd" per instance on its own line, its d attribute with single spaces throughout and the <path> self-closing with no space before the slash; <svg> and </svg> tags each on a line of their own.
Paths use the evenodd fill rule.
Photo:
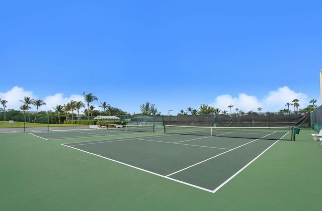
<svg viewBox="0 0 322 211">
<path fill-rule="evenodd" d="M 270 91 L 263 99 L 258 99 L 256 96 L 247 95 L 246 93 L 239 93 L 237 97 L 233 97 L 230 94 L 219 95 L 211 106 L 227 112 L 230 112 L 228 108 L 230 104 L 233 105 L 232 112 L 235 112 L 236 108 L 244 112 L 258 111 L 258 108 L 262 108 L 262 112 L 278 112 L 281 109 L 286 109 L 285 104 L 292 102 L 295 98 L 299 100 L 300 108 L 306 108 L 309 104 L 306 94 L 295 92 L 284 86 L 275 91 Z"/>
</svg>

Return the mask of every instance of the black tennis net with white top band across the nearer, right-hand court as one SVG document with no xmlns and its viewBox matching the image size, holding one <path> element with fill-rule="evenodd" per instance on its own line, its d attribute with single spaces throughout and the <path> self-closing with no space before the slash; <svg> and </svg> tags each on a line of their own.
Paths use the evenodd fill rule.
<svg viewBox="0 0 322 211">
<path fill-rule="evenodd" d="M 165 125 L 164 133 L 230 138 L 293 140 L 293 127 L 193 127 Z"/>
</svg>

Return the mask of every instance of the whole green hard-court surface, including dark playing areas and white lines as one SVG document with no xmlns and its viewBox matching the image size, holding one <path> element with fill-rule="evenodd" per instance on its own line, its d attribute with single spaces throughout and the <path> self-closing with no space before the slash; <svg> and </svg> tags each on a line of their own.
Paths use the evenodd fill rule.
<svg viewBox="0 0 322 211">
<path fill-rule="evenodd" d="M 2 133 L 1 208 L 322 208 L 322 148 L 310 129 L 276 143 L 159 131 Z"/>
</svg>

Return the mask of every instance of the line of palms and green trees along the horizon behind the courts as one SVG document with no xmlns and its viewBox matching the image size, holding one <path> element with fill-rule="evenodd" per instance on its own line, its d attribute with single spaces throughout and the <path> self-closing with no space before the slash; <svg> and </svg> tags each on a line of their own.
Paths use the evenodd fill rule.
<svg viewBox="0 0 322 211">
<path fill-rule="evenodd" d="M 54 112 L 48 112 L 50 113 L 50 121 L 52 123 L 63 123 L 64 121 L 68 121 L 70 118 L 69 116 L 71 116 L 71 121 L 74 121 L 74 118 L 76 121 L 79 121 L 79 117 L 80 116 L 87 116 L 87 122 L 89 123 L 90 121 L 90 116 L 99 116 L 99 115 L 113 115 L 113 116 L 123 116 L 123 115 L 128 115 L 131 116 L 130 114 L 128 114 L 127 112 L 122 111 L 121 109 L 118 108 L 114 108 L 112 107 L 108 102 L 103 101 L 100 102 L 99 107 L 103 110 L 96 110 L 95 105 L 92 105 L 93 101 L 98 101 L 98 97 L 93 95 L 93 93 L 86 93 L 85 91 L 83 92 L 83 97 L 84 97 L 84 101 L 75 101 L 75 100 L 70 100 L 68 103 L 63 103 L 61 104 L 57 104 L 56 107 L 53 108 Z M 22 112 L 23 115 L 21 115 L 21 112 L 15 111 L 15 110 L 8 110 L 7 111 L 7 103 L 8 101 L 6 99 L 0 99 L 0 103 L 2 104 L 3 108 L 0 108 L 0 120 L 5 120 L 6 119 L 10 119 L 10 120 L 15 120 L 15 121 L 25 121 L 27 122 L 26 119 L 26 115 L 28 117 L 28 122 L 35 122 L 37 120 L 37 116 L 41 114 L 41 121 L 37 121 L 37 122 L 43 122 L 45 121 L 44 119 L 47 116 L 47 112 L 38 112 L 39 108 L 42 105 L 46 105 L 46 102 L 44 102 L 41 99 L 33 99 L 30 96 L 25 96 L 23 100 L 20 100 L 23 104 L 20 106 L 20 110 Z M 278 113 L 280 114 L 285 114 L 285 113 L 290 113 L 291 112 L 291 107 L 294 108 L 294 112 L 297 113 L 307 113 L 307 112 L 311 112 L 316 108 L 315 103 L 317 102 L 316 99 L 311 99 L 309 101 L 309 103 L 312 103 L 310 105 L 308 105 L 308 107 L 304 108 L 304 109 L 298 109 L 298 107 L 300 107 L 299 104 L 299 100 L 298 99 L 293 99 L 292 102 L 287 102 L 285 104 L 285 106 L 287 107 L 287 109 L 281 109 L 278 111 Z M 31 105 L 34 105 L 36 107 L 36 112 L 30 114 L 30 109 L 31 109 Z M 246 113 L 244 111 L 241 111 L 238 108 L 235 108 L 235 112 L 232 113 L 232 108 L 234 107 L 234 105 L 230 104 L 227 106 L 227 109 L 229 109 L 230 111 L 230 115 L 232 114 L 236 114 L 236 115 L 245 115 Z M 80 115 L 79 111 L 83 110 L 83 114 Z M 147 101 L 146 103 L 143 103 L 142 105 L 140 105 L 140 110 L 141 113 L 140 114 L 133 114 L 133 116 L 137 116 L 137 115 L 147 115 L 147 116 L 160 116 L 161 113 L 157 111 L 157 109 L 155 108 L 155 104 L 150 103 L 149 101 Z M 261 114 L 262 108 L 258 108 L 257 111 Z M 75 113 L 74 113 L 75 112 Z M 254 111 L 249 111 L 248 113 L 253 113 Z M 27 114 L 26 114 L 27 113 Z M 180 113 L 178 113 L 178 116 L 180 115 L 207 115 L 207 114 L 224 114 L 224 115 L 228 115 L 228 111 L 226 110 L 220 110 L 218 108 L 214 108 L 209 106 L 208 104 L 201 104 L 199 107 L 199 110 L 197 109 L 193 109 L 191 107 L 188 107 L 187 110 L 181 110 Z M 3 116 L 3 117 L 2 117 Z M 32 119 L 31 119 L 32 118 Z"/>
</svg>

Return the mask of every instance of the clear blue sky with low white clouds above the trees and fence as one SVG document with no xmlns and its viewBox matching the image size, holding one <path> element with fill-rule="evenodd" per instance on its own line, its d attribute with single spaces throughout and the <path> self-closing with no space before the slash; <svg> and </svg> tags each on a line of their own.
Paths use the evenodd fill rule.
<svg viewBox="0 0 322 211">
<path fill-rule="evenodd" d="M 5 1 L 0 98 L 19 110 L 83 100 L 130 114 L 208 104 L 279 111 L 320 104 L 321 1 Z M 35 110 L 32 108 L 31 110 Z"/>
</svg>

